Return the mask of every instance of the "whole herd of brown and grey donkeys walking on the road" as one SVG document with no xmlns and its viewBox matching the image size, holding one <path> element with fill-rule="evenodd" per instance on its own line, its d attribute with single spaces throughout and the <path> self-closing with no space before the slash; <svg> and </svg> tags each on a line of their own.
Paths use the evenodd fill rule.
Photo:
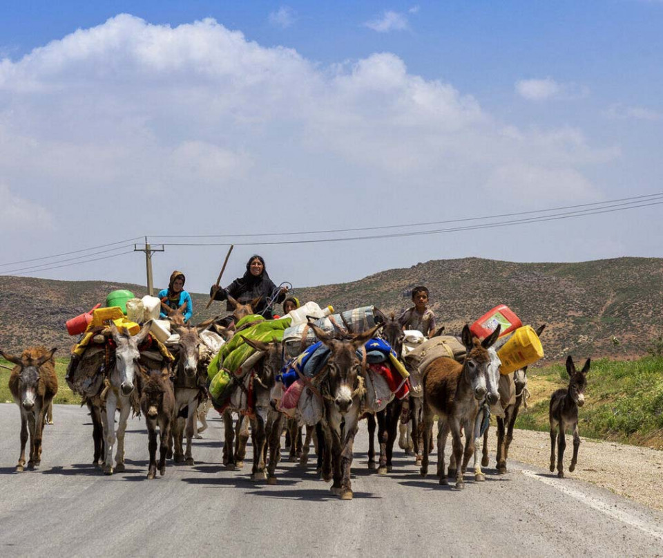
<svg viewBox="0 0 663 558">
<path fill-rule="evenodd" d="M 250 304 L 232 301 L 235 310 L 233 317 L 238 321 L 252 313 Z M 253 468 L 251 480 L 267 479 L 276 484 L 276 465 L 280 459 L 280 443 L 285 427 L 292 431 L 291 458 L 300 456 L 300 464 L 307 463 L 310 440 L 316 443 L 318 455 L 318 475 L 325 481 L 333 481 L 331 490 L 341 499 L 352 499 L 350 469 L 352 466 L 353 443 L 361 418 L 367 418 L 369 429 L 369 468 L 378 469 L 379 474 L 392 470 L 392 452 L 398 437 L 398 422 L 410 421 L 411 438 L 399 444 L 409 454 L 414 454 L 416 464 L 421 467 L 421 475 L 428 471 L 429 454 L 433 449 L 433 424 L 438 421 L 437 436 L 437 476 L 440 484 L 448 484 L 454 478 L 455 487 L 464 487 L 463 474 L 470 458 L 474 458 L 474 480 L 483 481 L 485 476 L 481 466 L 488 466 L 488 429 L 483 406 L 495 404 L 499 400 L 499 357 L 496 342 L 499 328 L 484 340 L 472 335 L 465 325 L 459 340 L 465 346 L 465 355 L 454 360 L 439 357 L 427 365 L 425 370 L 410 369 L 410 375 L 419 375 L 419 392 L 411 391 L 410 400 L 405 401 L 409 411 L 403 413 L 404 401 L 393 398 L 384 409 L 377 413 L 365 413 L 363 398 L 366 397 L 363 375 L 365 359 L 358 356 L 368 340 L 381 336 L 397 355 L 403 347 L 403 328 L 394 315 L 387 317 L 376 310 L 379 322 L 367 331 L 325 332 L 311 324 L 316 337 L 330 349 L 330 356 L 323 370 L 316 376 L 316 386 L 311 387 L 322 402 L 322 418 L 315 427 L 307 425 L 306 440 L 301 444 L 297 427 L 287 425 L 292 419 L 285 417 L 271 400 L 272 389 L 281 371 L 284 351 L 280 343 L 263 343 L 246 340 L 253 348 L 262 352 L 262 358 L 253 366 L 250 380 L 235 380 L 236 389 L 252 397 L 240 398 L 244 404 L 229 407 L 223 412 L 225 435 L 222 461 L 228 469 L 241 467 L 251 427 L 253 445 Z M 142 411 L 148 429 L 149 469 L 148 478 L 155 478 L 157 469 L 161 475 L 166 471 L 166 459 L 193 465 L 191 440 L 196 425 L 197 409 L 204 397 L 198 387 L 206 379 L 209 360 L 201 357 L 200 333 L 206 328 L 221 331 L 214 320 L 198 326 L 184 324 L 181 314 L 171 313 L 173 328 L 180 334 L 177 346 L 173 347 L 175 361 L 164 362 L 160 366 L 148 366 L 142 359 L 139 347 L 142 346 L 150 330 L 144 324 L 136 335 L 119 331 L 113 324 L 108 333 L 112 354 L 106 354 L 104 388 L 85 403 L 93 419 L 94 461 L 103 467 L 106 474 L 124 471 L 124 432 L 128 417 L 133 410 Z M 537 330 L 540 334 L 545 326 Z M 224 336 L 233 331 L 223 328 Z M 241 335 L 241 332 L 234 333 Z M 499 344 L 499 343 L 498 343 Z M 26 443 L 30 434 L 30 454 L 28 469 L 37 467 L 41 461 L 41 439 L 46 413 L 57 392 L 55 374 L 55 348 L 28 348 L 21 356 L 0 354 L 15 364 L 10 375 L 10 391 L 21 410 L 21 455 L 16 470 L 26 467 Z M 108 351 L 106 351 L 108 353 Z M 361 351 L 359 353 L 361 355 Z M 573 360 L 568 356 L 566 370 L 569 384 L 566 389 L 558 389 L 550 398 L 550 471 L 559 477 L 564 476 L 562 458 L 566 447 L 565 432 L 573 431 L 573 458 L 568 470 L 573 472 L 577 463 L 580 438 L 578 434 L 578 407 L 584 403 L 586 374 L 590 366 L 588 359 L 582 370 L 577 371 Z M 193 380 L 193 382 L 192 382 Z M 506 473 L 506 460 L 512 441 L 514 422 L 526 394 L 526 368 L 516 371 L 515 402 L 503 409 L 503 416 L 497 416 L 497 472 Z M 251 404 L 252 403 L 252 404 Z M 248 407 L 247 407 L 248 406 Z M 243 407 L 243 408 L 242 408 Z M 186 409 L 186 411 L 184 411 Z M 119 419 L 116 421 L 116 411 Z M 233 415 L 236 419 L 233 420 Z M 186 418 L 183 418 L 186 416 Z M 116 430 L 117 422 L 117 430 Z M 234 425 L 233 425 L 234 422 Z M 379 461 L 375 462 L 374 433 L 378 429 Z M 157 460 L 157 426 L 160 434 L 160 455 Z M 403 428 L 403 425 L 401 425 Z M 461 438 L 465 434 L 465 443 Z M 300 429 L 301 433 L 301 429 Z M 452 435 L 452 452 L 448 469 L 445 470 L 445 444 L 448 434 Z M 403 431 L 401 431 L 403 436 Z M 483 436 L 483 452 L 479 456 L 479 441 Z M 186 450 L 183 441 L 186 438 Z M 113 468 L 113 447 L 115 468 Z M 557 461 L 555 461 L 557 445 Z M 174 446 L 174 447 L 173 447 Z"/>
</svg>

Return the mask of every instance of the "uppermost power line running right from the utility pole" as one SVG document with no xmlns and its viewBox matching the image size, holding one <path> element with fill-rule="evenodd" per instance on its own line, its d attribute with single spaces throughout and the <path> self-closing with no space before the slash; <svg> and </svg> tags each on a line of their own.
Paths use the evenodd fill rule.
<svg viewBox="0 0 663 558">
<path fill-rule="evenodd" d="M 327 230 L 306 230 L 306 231 L 300 231 L 300 232 L 260 232 L 260 233 L 247 233 L 247 234 L 239 234 L 239 233 L 233 233 L 233 234 L 151 234 L 149 235 L 151 238 L 161 238 L 161 239 L 172 239 L 172 238 L 177 238 L 177 239 L 218 239 L 218 238 L 229 238 L 229 239 L 234 239 L 234 238 L 251 238 L 255 236 L 296 236 L 300 234 L 327 234 L 327 233 L 334 233 L 334 232 L 359 232 L 359 231 L 368 231 L 368 230 L 386 230 L 386 229 L 397 229 L 397 228 L 403 228 L 403 227 L 425 227 L 425 226 L 430 226 L 430 225 L 445 225 L 448 223 L 463 223 L 467 221 L 483 221 L 486 219 L 494 219 L 494 218 L 502 218 L 502 217 L 513 217 L 513 216 L 520 216 L 520 215 L 531 215 L 531 214 L 537 214 L 537 213 L 549 213 L 549 212 L 554 212 L 554 211 L 561 211 L 561 210 L 570 210 L 570 209 L 577 209 L 579 207 L 590 207 L 590 206 L 601 206 L 601 205 L 609 205 L 621 201 L 631 201 L 635 203 L 637 200 L 645 200 L 646 198 L 649 198 L 650 201 L 655 199 L 655 198 L 660 198 L 663 196 L 663 192 L 659 192 L 657 194 L 646 194 L 644 196 L 630 196 L 628 198 L 616 198 L 613 200 L 607 200 L 607 201 L 599 201 L 599 202 L 593 202 L 593 203 L 580 203 L 576 205 L 563 205 L 560 207 L 550 207 L 546 210 L 530 210 L 530 211 L 523 211 L 523 212 L 513 212 L 513 213 L 502 213 L 502 214 L 497 214 L 497 215 L 489 215 L 489 216 L 483 216 L 483 217 L 467 217 L 467 218 L 459 218 L 459 219 L 447 219 L 445 221 L 429 221 L 427 223 L 407 223 L 407 224 L 402 224 L 402 225 L 381 225 L 378 227 L 354 227 L 354 228 L 349 228 L 349 229 L 327 229 Z M 596 209 L 599 209 L 597 207 Z M 223 244 L 225 245 L 225 244 Z"/>
</svg>

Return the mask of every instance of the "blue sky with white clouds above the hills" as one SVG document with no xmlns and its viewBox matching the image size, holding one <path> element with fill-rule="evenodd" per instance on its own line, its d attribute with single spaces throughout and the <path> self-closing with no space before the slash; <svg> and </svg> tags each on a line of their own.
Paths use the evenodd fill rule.
<svg viewBox="0 0 663 558">
<path fill-rule="evenodd" d="M 4 1 L 0 273 L 144 234 L 421 223 L 663 191 L 662 23 L 655 0 Z M 660 207 L 247 245 L 227 278 L 253 252 L 296 285 L 452 257 L 660 257 Z M 204 290 L 225 250 L 171 245 L 155 275 L 190 269 L 187 286 Z M 139 254 L 26 272 L 144 280 Z"/>
</svg>

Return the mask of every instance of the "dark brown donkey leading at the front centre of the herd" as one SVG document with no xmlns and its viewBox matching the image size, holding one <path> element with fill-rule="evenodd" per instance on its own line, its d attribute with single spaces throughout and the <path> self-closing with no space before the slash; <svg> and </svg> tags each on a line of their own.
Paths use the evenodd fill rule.
<svg viewBox="0 0 663 558">
<path fill-rule="evenodd" d="M 352 446 L 357 433 L 359 408 L 365 388 L 361 375 L 361 361 L 356 351 L 372 339 L 382 324 L 356 335 L 329 334 L 310 324 L 318 340 L 331 353 L 317 378 L 323 395 L 324 411 L 321 426 L 324 443 L 323 478 L 333 478 L 332 493 L 342 500 L 352 500 Z M 340 337 L 340 338 L 338 338 Z M 345 422 L 345 425 L 341 425 Z"/>
</svg>

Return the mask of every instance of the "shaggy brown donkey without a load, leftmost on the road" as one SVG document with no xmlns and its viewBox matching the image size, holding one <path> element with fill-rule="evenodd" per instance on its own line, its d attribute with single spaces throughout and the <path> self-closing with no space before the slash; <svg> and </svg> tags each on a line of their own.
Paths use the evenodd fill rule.
<svg viewBox="0 0 663 558">
<path fill-rule="evenodd" d="M 0 355 L 16 366 L 9 378 L 9 390 L 15 403 L 21 410 L 21 456 L 16 466 L 17 472 L 23 472 L 26 465 L 26 443 L 30 431 L 30 459 L 28 469 L 34 469 L 41 463 L 41 435 L 46 423 L 46 411 L 57 393 L 57 375 L 55 375 L 55 353 L 46 347 L 30 347 L 16 357 L 0 351 Z"/>
</svg>

